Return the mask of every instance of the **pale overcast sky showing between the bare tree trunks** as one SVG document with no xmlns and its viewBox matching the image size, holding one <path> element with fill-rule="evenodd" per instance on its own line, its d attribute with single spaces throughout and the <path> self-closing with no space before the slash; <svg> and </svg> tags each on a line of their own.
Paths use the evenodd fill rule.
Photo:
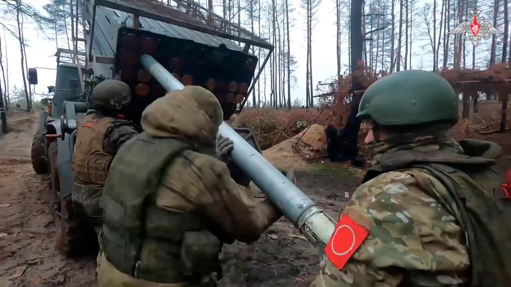
<svg viewBox="0 0 511 287">
<path fill-rule="evenodd" d="M 48 0 L 26 0 L 31 3 L 35 7 L 38 7 L 42 10 L 42 6 L 48 3 Z M 414 5 L 415 7 L 420 7 L 424 4 L 425 1 L 432 0 L 417 0 Z M 202 1 L 204 3 L 204 0 Z M 291 53 L 295 55 L 296 60 L 298 62 L 298 67 L 295 72 L 295 76 L 297 78 L 297 86 L 292 90 L 291 98 L 294 99 L 296 97 L 304 99 L 305 102 L 305 66 L 306 66 L 306 38 L 305 38 L 305 17 L 304 11 L 299 8 L 300 0 L 290 0 L 290 4 L 295 8 L 294 16 L 295 27 L 291 30 Z M 478 7 L 479 8 L 479 7 Z M 437 8 L 439 9 L 439 8 Z M 488 11 L 484 7 L 479 8 L 482 10 L 481 15 L 485 16 L 487 20 L 492 21 L 493 13 L 492 11 Z M 396 11 L 399 12 L 399 6 L 397 5 Z M 439 14 L 439 11 L 438 11 Z M 312 47 L 312 58 L 313 58 L 313 81 L 314 85 L 318 81 L 326 80 L 336 73 L 336 37 L 335 37 L 335 1 L 333 0 L 322 0 L 321 5 L 318 10 L 318 20 L 313 33 L 313 47 Z M 343 17 L 347 17 L 345 15 Z M 421 20 L 416 19 L 417 23 Z M 4 21 L 7 25 L 15 25 L 13 21 Z M 423 26 L 423 23 L 419 23 L 416 25 L 415 30 L 419 30 L 419 27 Z M 28 57 L 28 66 L 29 67 L 47 67 L 47 68 L 55 68 L 56 59 L 54 54 L 56 52 L 55 41 L 49 40 L 47 37 L 41 33 L 41 31 L 37 31 L 35 26 L 31 23 L 26 23 L 25 25 L 25 38 L 28 40 L 27 47 L 27 57 Z M 454 27 L 452 27 L 454 28 Z M 3 52 L 4 52 L 4 66 L 6 65 L 6 51 L 5 51 L 5 43 L 4 43 L 4 31 L 0 31 L 2 33 L 2 42 L 3 42 Z M 53 32 L 53 31 L 52 31 Z M 50 32 L 50 33 L 52 33 Z M 419 40 L 419 33 L 416 32 L 416 38 L 414 39 L 414 55 L 412 60 L 412 66 L 417 67 L 421 64 L 424 69 L 431 68 L 431 60 L 432 57 L 427 53 L 427 48 L 423 50 L 421 46 L 424 45 L 424 41 Z M 484 40 L 483 40 L 484 41 Z M 403 40 L 404 42 L 404 40 Z M 491 41 L 484 41 L 491 42 Z M 469 41 L 467 41 L 470 44 Z M 481 49 L 482 45 L 480 44 L 477 49 Z M 19 44 L 17 40 L 11 35 L 7 34 L 7 60 L 9 63 L 9 85 L 12 90 L 14 85 L 18 87 L 22 86 L 21 81 L 21 71 L 20 71 L 20 53 L 19 53 Z M 471 50 L 471 49 L 470 49 Z M 416 54 L 416 55 L 415 55 Z M 482 54 L 482 53 L 480 53 Z M 423 55 L 423 56 L 421 56 Z M 347 39 L 343 43 L 342 47 L 342 63 L 347 64 L 348 61 L 347 55 Z M 471 57 L 468 56 L 469 58 Z M 480 59 L 481 55 L 478 55 L 478 59 Z M 440 56 L 442 59 L 442 56 Z M 481 58 L 482 59 L 482 58 Z M 469 61 L 471 64 L 471 60 Z M 269 76 L 269 73 L 268 73 Z M 47 86 L 55 85 L 55 71 L 54 70 L 46 70 L 46 69 L 38 69 L 38 78 L 39 84 L 36 86 L 35 91 L 37 93 L 43 93 L 47 91 Z M 262 80 L 262 79 L 261 79 Z"/>
</svg>

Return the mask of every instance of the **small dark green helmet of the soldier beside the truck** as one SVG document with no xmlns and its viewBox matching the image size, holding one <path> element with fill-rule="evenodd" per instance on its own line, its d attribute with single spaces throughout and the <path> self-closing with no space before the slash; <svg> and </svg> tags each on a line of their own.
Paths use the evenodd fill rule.
<svg viewBox="0 0 511 287">
<path fill-rule="evenodd" d="M 118 80 L 104 80 L 92 91 L 92 103 L 97 109 L 122 110 L 131 101 L 129 86 Z"/>
</svg>

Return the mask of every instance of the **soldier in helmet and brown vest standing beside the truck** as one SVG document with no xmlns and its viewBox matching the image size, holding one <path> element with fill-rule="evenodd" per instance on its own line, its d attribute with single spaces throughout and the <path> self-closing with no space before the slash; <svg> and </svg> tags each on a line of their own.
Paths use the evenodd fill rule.
<svg viewBox="0 0 511 287">
<path fill-rule="evenodd" d="M 101 230 L 99 200 L 110 162 L 119 148 L 140 132 L 130 121 L 120 117 L 131 100 L 130 88 L 117 80 L 105 80 L 92 91 L 96 109 L 78 123 L 73 158 L 75 190 L 73 196 L 80 216 Z"/>
</svg>

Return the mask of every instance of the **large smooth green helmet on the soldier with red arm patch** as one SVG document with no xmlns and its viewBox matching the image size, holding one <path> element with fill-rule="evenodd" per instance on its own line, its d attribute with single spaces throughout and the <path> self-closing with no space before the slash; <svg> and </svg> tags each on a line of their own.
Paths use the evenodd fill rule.
<svg viewBox="0 0 511 287">
<path fill-rule="evenodd" d="M 358 117 L 381 126 L 458 122 L 458 97 L 444 78 L 424 70 L 405 70 L 370 85 L 360 100 Z"/>
</svg>

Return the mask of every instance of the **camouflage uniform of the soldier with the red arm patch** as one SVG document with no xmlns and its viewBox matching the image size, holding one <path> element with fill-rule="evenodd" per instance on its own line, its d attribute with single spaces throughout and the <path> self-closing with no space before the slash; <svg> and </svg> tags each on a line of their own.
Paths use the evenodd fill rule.
<svg viewBox="0 0 511 287">
<path fill-rule="evenodd" d="M 312 286 L 505 286 L 511 280 L 510 202 L 490 168 L 501 148 L 458 143 L 446 136 L 445 124 L 429 126 L 368 145 L 373 168 L 340 214 L 368 235 L 340 270 L 323 255 Z"/>
</svg>

